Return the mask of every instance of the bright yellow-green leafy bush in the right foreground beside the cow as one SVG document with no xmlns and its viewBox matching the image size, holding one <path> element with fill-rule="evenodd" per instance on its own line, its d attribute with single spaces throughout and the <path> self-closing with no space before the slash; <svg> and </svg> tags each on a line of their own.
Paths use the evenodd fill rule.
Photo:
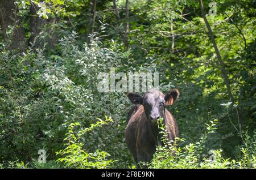
<svg viewBox="0 0 256 180">
<path fill-rule="evenodd" d="M 185 142 L 184 139 L 177 138 L 174 142 L 168 141 L 163 136 L 163 146 L 156 149 L 153 160 L 148 164 L 149 168 L 255 168 L 256 167 L 256 131 L 253 138 L 244 134 L 245 142 L 240 147 L 240 155 L 237 160 L 224 158 L 221 149 L 211 149 L 205 151 L 205 143 L 209 134 L 216 133 L 218 121 L 210 121 L 207 124 L 207 131 L 201 136 L 199 142 L 189 143 L 184 147 L 179 147 L 178 142 Z M 164 128 L 162 133 L 166 134 Z"/>
</svg>

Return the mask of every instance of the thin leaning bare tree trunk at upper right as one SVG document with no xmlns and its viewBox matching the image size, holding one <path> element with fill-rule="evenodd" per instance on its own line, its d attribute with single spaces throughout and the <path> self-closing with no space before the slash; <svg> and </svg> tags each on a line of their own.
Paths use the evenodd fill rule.
<svg viewBox="0 0 256 180">
<path fill-rule="evenodd" d="M 218 62 L 220 63 L 220 66 L 221 66 L 221 72 L 222 72 L 222 76 L 224 78 L 224 82 L 226 84 L 226 89 L 228 91 L 229 98 L 230 98 L 230 100 L 232 102 L 234 102 L 234 97 L 233 97 L 231 89 L 230 89 L 228 74 L 226 73 L 225 63 L 221 59 L 221 55 L 220 55 L 220 52 L 218 50 L 216 41 L 214 39 L 214 35 L 213 35 L 213 32 L 212 32 L 212 29 L 210 28 L 208 20 L 207 20 L 207 18 L 205 16 L 204 5 L 203 5 L 202 0 L 199 0 L 199 3 L 200 3 L 201 14 L 202 14 L 202 16 L 204 18 L 205 25 L 207 26 L 208 33 L 209 33 L 209 36 L 210 36 L 210 40 L 212 41 L 215 53 L 216 53 L 217 58 L 218 58 Z"/>
</svg>

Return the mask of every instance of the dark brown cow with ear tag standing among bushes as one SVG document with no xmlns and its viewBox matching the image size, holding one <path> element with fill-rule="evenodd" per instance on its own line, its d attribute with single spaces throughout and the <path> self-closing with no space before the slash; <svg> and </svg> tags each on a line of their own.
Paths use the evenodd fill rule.
<svg viewBox="0 0 256 180">
<path fill-rule="evenodd" d="M 164 119 L 167 138 L 174 140 L 179 136 L 177 123 L 172 114 L 166 109 L 179 98 L 179 91 L 172 89 L 166 95 L 158 89 L 150 89 L 144 96 L 137 93 L 128 93 L 127 97 L 134 104 L 128 115 L 125 130 L 127 146 L 135 162 L 149 162 L 156 151 L 156 146 L 161 145 L 158 119 Z"/>
</svg>

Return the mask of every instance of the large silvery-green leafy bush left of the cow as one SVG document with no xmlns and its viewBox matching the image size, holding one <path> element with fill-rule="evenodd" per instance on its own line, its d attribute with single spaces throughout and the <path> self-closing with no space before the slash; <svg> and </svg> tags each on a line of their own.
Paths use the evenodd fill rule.
<svg viewBox="0 0 256 180">
<path fill-rule="evenodd" d="M 86 148 L 102 149 L 115 160 L 125 161 L 120 166 L 131 161 L 123 133 L 128 101 L 122 93 L 98 92 L 96 81 L 97 74 L 109 72 L 121 55 L 100 47 L 100 41 L 81 49 L 76 38 L 76 33 L 71 33 L 61 39 L 55 55 L 44 49 L 27 50 L 22 55 L 1 52 L 0 160 L 31 161 L 43 147 L 49 149 L 48 160 L 54 160 L 69 123 L 88 127 L 96 122 L 95 117 L 107 114 L 114 121 L 89 132 L 81 141 L 88 139 Z"/>
</svg>

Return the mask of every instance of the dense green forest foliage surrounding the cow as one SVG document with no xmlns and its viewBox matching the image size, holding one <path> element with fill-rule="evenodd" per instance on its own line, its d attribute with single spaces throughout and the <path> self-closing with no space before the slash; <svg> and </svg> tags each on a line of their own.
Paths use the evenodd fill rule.
<svg viewBox="0 0 256 180">
<path fill-rule="evenodd" d="M 255 1 L 216 0 L 216 16 L 206 16 L 231 94 L 200 1 L 9 2 L 18 18 L 0 28 L 2 168 L 133 167 L 126 93 L 97 90 L 111 68 L 159 72 L 161 91 L 181 93 L 168 107 L 180 139 L 158 147 L 149 168 L 256 168 Z"/>
</svg>

